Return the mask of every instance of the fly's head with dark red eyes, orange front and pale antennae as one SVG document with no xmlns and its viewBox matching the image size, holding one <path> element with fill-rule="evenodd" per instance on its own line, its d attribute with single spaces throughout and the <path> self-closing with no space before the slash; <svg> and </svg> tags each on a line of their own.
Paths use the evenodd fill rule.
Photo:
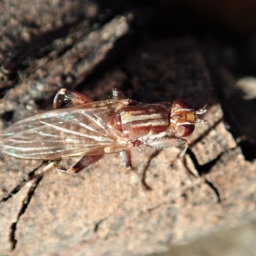
<svg viewBox="0 0 256 256">
<path fill-rule="evenodd" d="M 175 100 L 172 104 L 170 124 L 172 130 L 180 137 L 189 136 L 195 130 L 196 124 L 207 124 L 207 120 L 198 117 L 207 109 L 204 107 L 195 110 L 189 105 L 189 102 L 183 99 Z"/>
</svg>

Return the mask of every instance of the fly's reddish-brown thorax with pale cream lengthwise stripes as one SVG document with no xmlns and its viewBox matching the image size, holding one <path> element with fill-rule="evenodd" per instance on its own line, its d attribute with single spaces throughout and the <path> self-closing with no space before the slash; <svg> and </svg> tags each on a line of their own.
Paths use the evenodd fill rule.
<svg viewBox="0 0 256 256">
<path fill-rule="evenodd" d="M 129 139 L 163 136 L 170 126 L 170 111 L 163 104 L 137 104 L 108 120 L 109 129 L 117 129 Z"/>
</svg>

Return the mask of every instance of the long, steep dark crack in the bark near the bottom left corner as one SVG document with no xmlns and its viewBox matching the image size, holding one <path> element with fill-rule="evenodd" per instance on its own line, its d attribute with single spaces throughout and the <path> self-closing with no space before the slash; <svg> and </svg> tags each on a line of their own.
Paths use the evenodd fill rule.
<svg viewBox="0 0 256 256">
<path fill-rule="evenodd" d="M 11 227 L 10 227 L 10 243 L 11 243 L 11 250 L 14 250 L 17 244 L 17 239 L 15 239 L 15 232 L 16 232 L 16 228 L 17 228 L 17 223 L 19 221 L 20 216 L 22 216 L 22 214 L 24 214 L 24 212 L 26 211 L 29 202 L 32 198 L 32 196 L 34 195 L 35 189 L 37 188 L 39 182 L 42 180 L 42 177 L 39 177 L 38 179 L 35 180 L 35 182 L 33 183 L 33 186 L 31 186 L 31 188 L 28 191 L 28 195 L 26 196 L 26 198 L 23 200 L 23 204 L 22 207 L 19 211 L 19 214 L 17 216 L 17 221 L 12 223 Z"/>
</svg>

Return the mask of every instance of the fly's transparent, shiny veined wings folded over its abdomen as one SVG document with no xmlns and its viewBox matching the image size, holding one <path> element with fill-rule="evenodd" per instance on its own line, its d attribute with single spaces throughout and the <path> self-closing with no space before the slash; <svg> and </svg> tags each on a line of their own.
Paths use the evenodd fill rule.
<svg viewBox="0 0 256 256">
<path fill-rule="evenodd" d="M 58 159 L 120 152 L 127 147 L 106 122 L 129 102 L 102 100 L 29 116 L 0 135 L 3 153 L 22 159 Z M 122 141 L 122 140 L 121 140 Z"/>
</svg>

